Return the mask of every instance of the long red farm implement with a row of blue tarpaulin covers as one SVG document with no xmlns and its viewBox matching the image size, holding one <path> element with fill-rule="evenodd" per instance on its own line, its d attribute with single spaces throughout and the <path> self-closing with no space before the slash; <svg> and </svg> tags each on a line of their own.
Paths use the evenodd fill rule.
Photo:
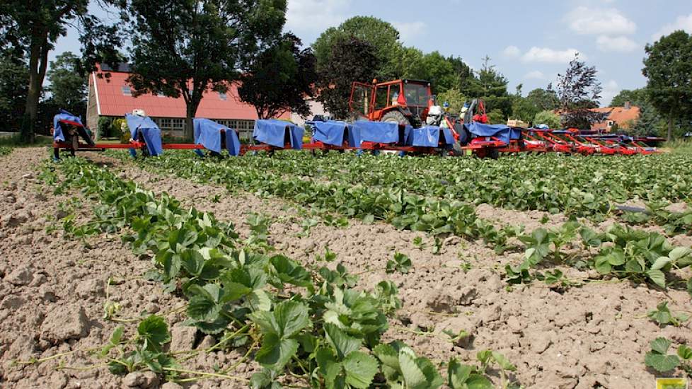
<svg viewBox="0 0 692 389">
<path fill-rule="evenodd" d="M 405 84 L 400 84 L 405 88 Z M 405 89 L 401 89 L 405 92 Z M 408 106 L 408 105 L 407 105 Z M 482 106 L 482 103 L 481 103 Z M 140 151 L 144 156 L 158 156 L 166 149 L 188 149 L 204 155 L 203 150 L 219 155 L 226 149 L 230 156 L 248 152 L 283 150 L 359 150 L 393 151 L 411 155 L 460 156 L 497 158 L 500 153 L 579 153 L 583 155 L 634 155 L 657 152 L 648 146 L 647 139 L 623 135 L 601 135 L 577 130 L 524 129 L 506 125 L 473 121 L 464 124 L 442 114 L 432 105 L 424 112 L 426 124 L 414 127 L 393 120 L 357 120 L 352 123 L 314 121 L 311 141 L 304 143 L 304 127 L 283 120 L 257 120 L 253 144 L 241 144 L 238 133 L 222 124 L 195 118 L 195 142 L 192 144 L 163 143 L 161 129 L 149 117 L 127 114 L 129 142 L 124 144 L 96 143 L 81 119 L 67 111 L 54 117 L 54 156 L 59 150 L 72 155 L 76 151 L 105 151 L 129 149 L 132 156 Z M 410 108 L 409 108 L 410 110 Z M 384 117 L 386 114 L 383 114 Z M 467 112 L 466 116 L 471 115 Z M 469 116 L 470 117 L 470 116 Z M 481 113 L 473 117 L 483 117 Z"/>
</svg>

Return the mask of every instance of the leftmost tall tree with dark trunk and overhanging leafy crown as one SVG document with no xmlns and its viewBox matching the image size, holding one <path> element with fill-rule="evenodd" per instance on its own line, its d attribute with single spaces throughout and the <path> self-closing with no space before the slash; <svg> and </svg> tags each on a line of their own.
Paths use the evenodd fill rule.
<svg viewBox="0 0 692 389">
<path fill-rule="evenodd" d="M 27 93 L 21 124 L 21 140 L 34 141 L 38 102 L 48 66 L 48 53 L 67 33 L 67 25 L 79 25 L 85 59 L 113 62 L 120 39 L 115 26 L 105 26 L 88 14 L 88 0 L 4 0 L 0 3 L 0 49 L 11 48 L 28 59 Z"/>
</svg>

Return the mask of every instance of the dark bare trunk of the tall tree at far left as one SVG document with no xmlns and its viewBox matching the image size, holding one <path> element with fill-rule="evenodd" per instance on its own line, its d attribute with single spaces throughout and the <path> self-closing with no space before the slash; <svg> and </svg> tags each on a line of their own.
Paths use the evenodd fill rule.
<svg viewBox="0 0 692 389">
<path fill-rule="evenodd" d="M 38 117 L 38 100 L 41 97 L 41 88 L 48 66 L 47 36 L 35 36 L 32 39 L 29 57 L 29 89 L 26 95 L 26 104 L 22 118 L 21 141 L 33 143 L 35 139 L 35 125 Z"/>
</svg>

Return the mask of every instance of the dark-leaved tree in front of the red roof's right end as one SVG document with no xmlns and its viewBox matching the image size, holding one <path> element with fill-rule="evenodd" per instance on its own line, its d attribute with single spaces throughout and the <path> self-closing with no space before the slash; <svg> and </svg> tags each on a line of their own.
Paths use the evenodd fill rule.
<svg viewBox="0 0 692 389">
<path fill-rule="evenodd" d="M 238 88 L 241 100 L 255 106 L 260 119 L 277 117 L 285 112 L 310 115 L 306 97 L 313 97 L 317 81 L 315 56 L 291 33 L 268 47 L 250 66 Z"/>
</svg>

